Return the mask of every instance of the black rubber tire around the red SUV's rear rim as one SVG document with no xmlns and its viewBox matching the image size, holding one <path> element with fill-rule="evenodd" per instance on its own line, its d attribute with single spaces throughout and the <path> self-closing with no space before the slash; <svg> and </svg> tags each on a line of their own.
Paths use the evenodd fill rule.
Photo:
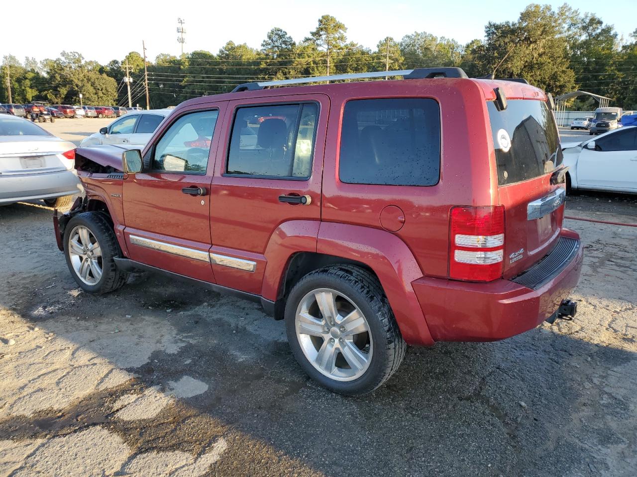
<svg viewBox="0 0 637 477">
<path fill-rule="evenodd" d="M 373 344 L 368 369 L 353 381 L 338 381 L 323 375 L 303 354 L 296 335 L 296 311 L 313 289 L 330 288 L 345 294 L 365 316 Z M 330 391 L 361 396 L 374 391 L 396 372 L 403 361 L 406 343 L 378 279 L 353 265 L 333 265 L 308 273 L 292 288 L 285 304 L 285 329 L 292 353 L 301 368 Z"/>
</svg>

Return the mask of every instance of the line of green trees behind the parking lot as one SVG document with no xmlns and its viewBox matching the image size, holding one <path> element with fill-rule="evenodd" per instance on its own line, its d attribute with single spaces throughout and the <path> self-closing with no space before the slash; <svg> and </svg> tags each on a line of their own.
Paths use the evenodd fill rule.
<svg viewBox="0 0 637 477">
<path fill-rule="evenodd" d="M 24 64 L 5 56 L 0 99 L 8 100 L 10 73 L 14 102 L 76 104 L 82 92 L 85 104 L 128 106 L 126 62 L 132 104 L 146 106 L 144 59 L 138 52 L 106 65 L 87 61 L 77 52 L 62 52 L 55 60 L 41 62 L 27 58 Z M 275 27 L 259 49 L 228 41 L 217 53 L 157 55 L 147 62 L 148 91 L 150 107 L 166 107 L 228 92 L 249 81 L 437 66 L 460 66 L 473 77 L 494 71 L 499 78 L 522 77 L 554 95 L 579 88 L 611 97 L 612 104 L 625 109 L 637 109 L 637 30 L 629 41 L 619 41 L 612 25 L 566 4 L 557 9 L 529 4 L 516 20 L 490 22 L 485 37 L 467 45 L 420 31 L 399 40 L 383 38 L 373 50 L 348 41 L 347 27 L 323 15 L 298 43 Z M 582 97 L 576 106 L 594 109 L 596 105 Z"/>
</svg>

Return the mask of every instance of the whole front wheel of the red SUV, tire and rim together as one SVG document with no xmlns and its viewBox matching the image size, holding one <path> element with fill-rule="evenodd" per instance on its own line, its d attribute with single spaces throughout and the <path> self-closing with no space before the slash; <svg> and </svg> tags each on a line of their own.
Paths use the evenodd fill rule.
<svg viewBox="0 0 637 477">
<path fill-rule="evenodd" d="M 64 256 L 73 279 L 89 293 L 108 293 L 122 287 L 128 273 L 113 258 L 122 252 L 113 227 L 100 212 L 82 212 L 64 230 Z"/>
</svg>

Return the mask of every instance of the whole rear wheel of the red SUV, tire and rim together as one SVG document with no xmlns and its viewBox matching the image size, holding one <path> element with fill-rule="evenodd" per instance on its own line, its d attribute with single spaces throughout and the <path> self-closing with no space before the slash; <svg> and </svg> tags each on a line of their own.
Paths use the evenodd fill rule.
<svg viewBox="0 0 637 477">
<path fill-rule="evenodd" d="M 406 344 L 376 277 L 334 265 L 308 273 L 285 305 L 290 348 L 318 384 L 359 396 L 389 379 Z"/>
</svg>

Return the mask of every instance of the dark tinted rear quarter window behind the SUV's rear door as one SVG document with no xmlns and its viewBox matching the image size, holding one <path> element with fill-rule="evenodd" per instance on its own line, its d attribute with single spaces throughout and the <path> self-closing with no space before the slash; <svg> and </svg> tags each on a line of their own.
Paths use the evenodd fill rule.
<svg viewBox="0 0 637 477">
<path fill-rule="evenodd" d="M 339 177 L 351 184 L 433 186 L 440 177 L 440 107 L 433 99 L 348 101 Z"/>
</svg>

